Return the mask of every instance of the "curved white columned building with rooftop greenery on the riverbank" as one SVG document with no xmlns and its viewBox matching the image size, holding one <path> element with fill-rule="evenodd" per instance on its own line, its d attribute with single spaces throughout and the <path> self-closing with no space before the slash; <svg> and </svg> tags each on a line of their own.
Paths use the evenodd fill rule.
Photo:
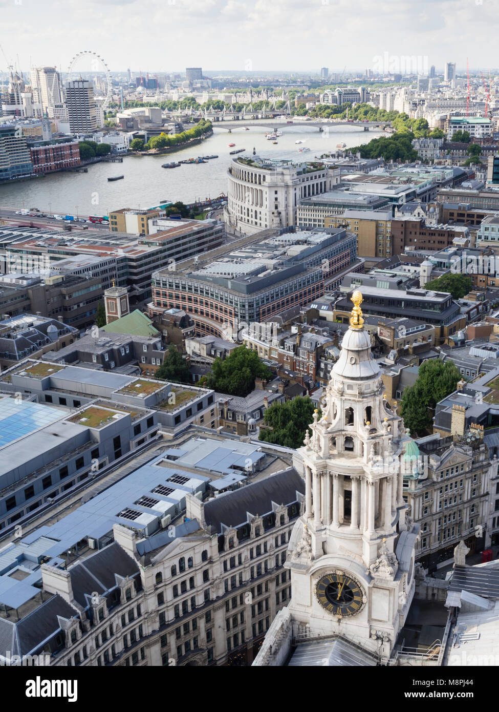
<svg viewBox="0 0 499 712">
<path fill-rule="evenodd" d="M 326 193 L 340 182 L 336 167 L 257 156 L 233 159 L 228 174 L 225 221 L 243 235 L 296 225 L 301 199 Z"/>
</svg>

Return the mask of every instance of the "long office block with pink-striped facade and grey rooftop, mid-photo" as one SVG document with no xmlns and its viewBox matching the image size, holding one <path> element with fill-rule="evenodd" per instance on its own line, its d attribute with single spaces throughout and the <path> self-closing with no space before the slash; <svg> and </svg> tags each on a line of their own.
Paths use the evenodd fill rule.
<svg viewBox="0 0 499 712">
<path fill-rule="evenodd" d="M 258 239 L 248 236 L 219 259 L 177 263 L 155 272 L 151 315 L 183 309 L 197 333 L 238 340 L 243 324 L 322 295 L 325 283 L 356 259 L 356 239 L 344 229 L 297 231 Z"/>
</svg>

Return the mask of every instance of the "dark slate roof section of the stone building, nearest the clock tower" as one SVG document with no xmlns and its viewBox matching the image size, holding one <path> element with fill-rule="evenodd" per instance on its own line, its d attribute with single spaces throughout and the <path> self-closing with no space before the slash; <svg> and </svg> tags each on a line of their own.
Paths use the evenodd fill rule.
<svg viewBox="0 0 499 712">
<path fill-rule="evenodd" d="M 263 480 L 238 490 L 221 494 L 204 505 L 207 526 L 221 533 L 221 525 L 238 526 L 248 521 L 248 513 L 264 515 L 272 511 L 272 503 L 291 504 L 305 494 L 305 482 L 295 468 L 277 472 Z"/>
</svg>

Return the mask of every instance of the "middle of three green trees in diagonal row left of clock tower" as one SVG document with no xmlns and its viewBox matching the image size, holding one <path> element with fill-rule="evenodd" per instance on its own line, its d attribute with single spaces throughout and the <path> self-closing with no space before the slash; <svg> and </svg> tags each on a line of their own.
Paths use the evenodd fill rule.
<svg viewBox="0 0 499 712">
<path fill-rule="evenodd" d="M 226 359 L 216 358 L 206 386 L 221 393 L 246 397 L 255 387 L 255 379 L 268 380 L 272 372 L 258 358 L 256 351 L 239 346 Z"/>
</svg>

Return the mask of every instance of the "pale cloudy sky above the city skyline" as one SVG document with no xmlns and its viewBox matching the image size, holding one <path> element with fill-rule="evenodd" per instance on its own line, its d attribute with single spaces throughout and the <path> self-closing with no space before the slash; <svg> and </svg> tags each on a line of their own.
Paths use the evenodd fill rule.
<svg viewBox="0 0 499 712">
<path fill-rule="evenodd" d="M 437 71 L 469 56 L 488 70 L 499 67 L 498 26 L 499 0 L 0 0 L 0 70 L 64 72 L 83 50 L 137 73 L 341 73 L 407 56 Z"/>
</svg>

